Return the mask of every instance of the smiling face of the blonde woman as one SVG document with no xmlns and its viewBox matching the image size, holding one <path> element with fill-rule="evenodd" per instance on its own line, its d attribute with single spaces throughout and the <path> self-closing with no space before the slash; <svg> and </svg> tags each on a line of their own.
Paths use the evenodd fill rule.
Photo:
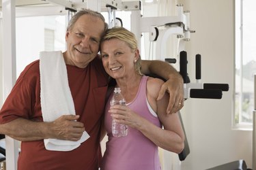
<svg viewBox="0 0 256 170">
<path fill-rule="evenodd" d="M 102 64 L 112 78 L 125 78 L 136 73 L 134 61 L 139 56 L 138 50 L 132 51 L 125 41 L 116 38 L 102 41 L 100 47 Z"/>
</svg>

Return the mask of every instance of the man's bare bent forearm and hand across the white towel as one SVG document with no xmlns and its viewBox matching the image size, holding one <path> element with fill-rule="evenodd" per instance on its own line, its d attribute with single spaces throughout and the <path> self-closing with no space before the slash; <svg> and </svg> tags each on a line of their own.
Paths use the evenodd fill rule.
<svg viewBox="0 0 256 170">
<path fill-rule="evenodd" d="M 61 116 L 53 122 L 33 122 L 17 118 L 11 122 L 0 124 L 0 133 L 18 141 L 35 141 L 40 139 L 63 139 L 78 141 L 85 131 L 83 123 L 76 122 L 79 116 Z"/>
</svg>

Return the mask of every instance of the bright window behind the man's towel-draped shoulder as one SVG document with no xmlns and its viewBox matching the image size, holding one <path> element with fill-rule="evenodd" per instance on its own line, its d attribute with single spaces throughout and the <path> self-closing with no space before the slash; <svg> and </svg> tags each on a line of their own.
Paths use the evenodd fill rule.
<svg viewBox="0 0 256 170">
<path fill-rule="evenodd" d="M 16 18 L 16 77 L 40 51 L 66 50 L 66 16 Z"/>
</svg>

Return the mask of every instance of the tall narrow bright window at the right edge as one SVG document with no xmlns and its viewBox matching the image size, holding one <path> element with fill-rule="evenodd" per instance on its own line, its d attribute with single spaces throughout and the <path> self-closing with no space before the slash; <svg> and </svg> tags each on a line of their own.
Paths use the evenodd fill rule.
<svg viewBox="0 0 256 170">
<path fill-rule="evenodd" d="M 252 129 L 256 74 L 255 0 L 236 0 L 236 128 Z"/>
</svg>

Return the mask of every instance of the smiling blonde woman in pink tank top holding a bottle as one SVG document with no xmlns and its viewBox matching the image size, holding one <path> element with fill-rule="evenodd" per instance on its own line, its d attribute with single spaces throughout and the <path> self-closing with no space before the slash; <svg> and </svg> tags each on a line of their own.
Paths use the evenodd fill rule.
<svg viewBox="0 0 256 170">
<path fill-rule="evenodd" d="M 159 170 L 158 147 L 180 153 L 184 133 L 177 114 L 167 114 L 169 95 L 157 100 L 164 83 L 141 73 L 141 58 L 134 34 L 122 27 L 108 29 L 101 45 L 104 69 L 121 88 L 126 105 L 105 107 L 108 135 L 102 170 Z M 112 96 L 112 95 L 111 95 Z M 109 97 L 109 100 L 111 99 Z M 112 119 L 128 125 L 126 137 L 113 137 Z"/>
</svg>

